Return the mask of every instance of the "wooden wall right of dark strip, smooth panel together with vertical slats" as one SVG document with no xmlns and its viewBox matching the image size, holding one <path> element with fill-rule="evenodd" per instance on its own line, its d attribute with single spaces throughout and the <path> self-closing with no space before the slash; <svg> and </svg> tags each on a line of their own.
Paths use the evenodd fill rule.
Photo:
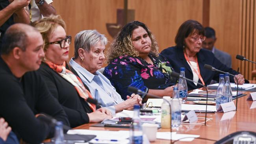
<svg viewBox="0 0 256 144">
<path fill-rule="evenodd" d="M 210 26 L 215 29 L 215 46 L 232 56 L 232 68 L 240 67 L 246 79 L 251 79 L 252 63 L 239 61 L 240 54 L 256 60 L 255 0 L 211 0 Z"/>
</svg>

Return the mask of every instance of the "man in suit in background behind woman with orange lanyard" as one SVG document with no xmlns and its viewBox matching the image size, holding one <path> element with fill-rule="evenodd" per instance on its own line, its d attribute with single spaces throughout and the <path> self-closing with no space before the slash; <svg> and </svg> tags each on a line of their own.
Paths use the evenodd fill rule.
<svg viewBox="0 0 256 144">
<path fill-rule="evenodd" d="M 215 30 L 213 28 L 206 27 L 204 28 L 204 32 L 205 32 L 206 39 L 202 42 L 202 47 L 213 52 L 213 54 L 217 59 L 219 59 L 219 61 L 221 61 L 224 65 L 231 68 L 232 63 L 231 63 L 230 54 L 223 52 L 221 50 L 218 50 L 214 46 L 217 40 L 217 38 L 215 37 Z"/>
</svg>

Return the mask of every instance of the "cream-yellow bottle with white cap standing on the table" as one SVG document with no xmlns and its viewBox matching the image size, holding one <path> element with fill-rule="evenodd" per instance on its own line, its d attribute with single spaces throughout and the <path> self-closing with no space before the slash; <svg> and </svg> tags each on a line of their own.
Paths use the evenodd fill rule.
<svg viewBox="0 0 256 144">
<path fill-rule="evenodd" d="M 161 107 L 161 128 L 171 128 L 171 115 L 170 115 L 171 97 L 163 96 L 163 99 L 164 100 Z"/>
</svg>

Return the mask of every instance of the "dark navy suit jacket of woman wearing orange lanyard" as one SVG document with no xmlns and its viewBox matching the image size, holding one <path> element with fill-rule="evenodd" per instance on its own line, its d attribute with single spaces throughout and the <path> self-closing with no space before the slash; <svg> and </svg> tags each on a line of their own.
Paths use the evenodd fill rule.
<svg viewBox="0 0 256 144">
<path fill-rule="evenodd" d="M 161 52 L 163 56 L 171 63 L 173 66 L 175 72 L 180 73 L 180 68 L 185 68 L 185 76 L 186 78 L 193 79 L 193 73 L 188 65 L 184 54 L 183 54 L 183 48 L 178 48 L 177 46 L 173 46 L 170 48 L 166 48 Z M 201 49 L 197 53 L 197 59 L 198 59 L 198 65 L 200 69 L 200 74 L 204 80 L 205 85 L 209 85 L 211 80 L 214 79 L 216 81 L 219 81 L 219 72 L 213 72 L 211 70 L 204 69 L 204 64 L 211 65 L 219 70 L 222 70 L 224 72 L 229 72 L 230 74 L 236 75 L 238 74 L 235 70 L 232 68 L 227 67 L 223 63 L 221 63 L 212 52 L 209 50 Z M 200 79 L 198 80 L 199 83 L 202 83 Z M 230 76 L 230 82 L 234 83 L 234 78 Z M 187 81 L 187 87 L 188 90 L 198 89 L 202 86 L 195 85 L 194 83 Z"/>
</svg>

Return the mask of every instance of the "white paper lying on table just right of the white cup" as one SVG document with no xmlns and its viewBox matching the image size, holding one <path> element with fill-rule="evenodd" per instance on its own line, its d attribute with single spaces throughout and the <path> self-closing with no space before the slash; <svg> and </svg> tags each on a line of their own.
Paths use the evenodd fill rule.
<svg viewBox="0 0 256 144">
<path fill-rule="evenodd" d="M 186 137 L 190 137 L 190 138 L 186 138 Z M 177 134 L 176 132 L 172 132 L 172 140 L 180 139 L 180 141 L 187 141 L 188 142 L 188 141 L 192 141 L 192 140 L 194 140 L 195 138 L 198 138 L 198 137 L 200 137 L 200 135 Z M 157 132 L 156 133 L 156 138 L 164 139 L 164 140 L 171 140 L 171 132 Z"/>
</svg>

